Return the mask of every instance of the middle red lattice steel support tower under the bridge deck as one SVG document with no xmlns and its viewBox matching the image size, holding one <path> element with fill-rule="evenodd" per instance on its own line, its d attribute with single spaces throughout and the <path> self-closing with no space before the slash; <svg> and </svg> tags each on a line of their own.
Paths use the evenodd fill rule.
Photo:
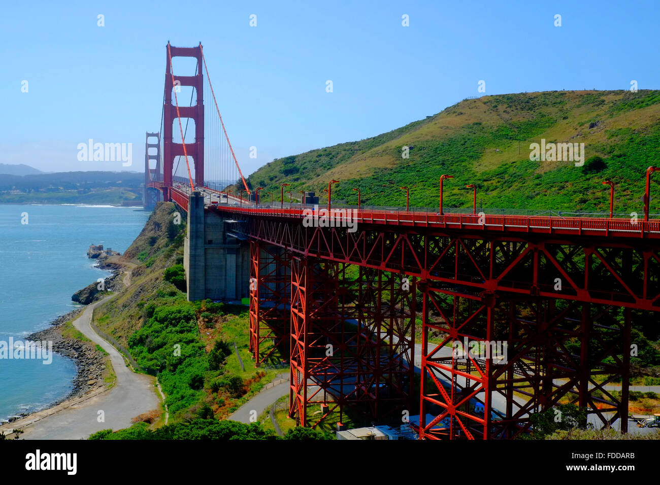
<svg viewBox="0 0 660 485">
<path fill-rule="evenodd" d="M 333 412 L 342 422 L 346 406 L 368 420 L 409 414 L 414 282 L 304 257 L 291 277 L 289 416 L 314 427 Z"/>
</svg>

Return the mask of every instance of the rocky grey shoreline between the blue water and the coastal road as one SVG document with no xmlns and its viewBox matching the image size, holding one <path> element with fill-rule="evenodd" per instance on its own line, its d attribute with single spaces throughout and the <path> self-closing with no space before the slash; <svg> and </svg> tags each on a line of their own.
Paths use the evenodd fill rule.
<svg viewBox="0 0 660 485">
<path fill-rule="evenodd" d="M 119 253 L 117 253 L 117 255 L 118 254 Z M 122 267 L 117 263 L 109 263 L 106 261 L 106 259 L 107 256 L 99 258 L 96 266 L 100 269 L 112 271 L 112 276 L 105 278 L 104 286 L 105 290 L 115 292 L 121 289 L 121 286 L 123 285 L 121 282 Z M 96 300 L 100 300 L 100 298 L 104 296 L 104 294 L 95 291 L 97 290 L 97 287 L 98 283 L 94 282 L 89 286 L 86 286 L 86 288 L 82 288 L 76 292 L 74 296 L 81 293 L 89 294 L 90 298 L 88 298 L 88 301 L 84 303 L 86 306 L 87 304 L 95 302 Z M 42 409 L 35 409 L 31 410 L 30 412 L 22 412 L 20 414 L 16 414 L 15 416 L 10 416 L 7 420 L 0 420 L 0 425 L 7 422 L 11 423 L 26 416 L 30 416 L 30 414 L 33 414 L 34 412 L 39 412 L 40 410 L 57 406 L 57 404 L 69 401 L 69 399 L 82 397 L 89 391 L 92 391 L 98 387 L 103 387 L 104 383 L 102 380 L 102 375 L 106 370 L 105 354 L 100 352 L 93 342 L 71 339 L 62 335 L 64 324 L 78 317 L 83 310 L 84 307 L 79 307 L 69 311 L 69 313 L 59 315 L 59 317 L 55 318 L 49 323 L 48 328 L 32 333 L 26 337 L 26 340 L 51 341 L 53 342 L 53 352 L 73 360 L 73 363 L 76 366 L 76 376 L 73 379 L 73 389 L 71 392 L 62 399 L 50 403 L 48 406 L 45 406 Z"/>
</svg>

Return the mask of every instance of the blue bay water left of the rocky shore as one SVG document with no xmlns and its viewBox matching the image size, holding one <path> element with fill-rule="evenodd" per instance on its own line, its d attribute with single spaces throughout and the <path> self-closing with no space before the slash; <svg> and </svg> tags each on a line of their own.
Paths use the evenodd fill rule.
<svg viewBox="0 0 660 485">
<path fill-rule="evenodd" d="M 74 309 L 74 292 L 110 275 L 87 258 L 89 245 L 123 253 L 148 218 L 133 207 L 0 204 L 0 345 Z M 51 364 L 0 358 L 0 419 L 48 407 L 74 377 L 73 361 L 57 354 Z"/>
</svg>

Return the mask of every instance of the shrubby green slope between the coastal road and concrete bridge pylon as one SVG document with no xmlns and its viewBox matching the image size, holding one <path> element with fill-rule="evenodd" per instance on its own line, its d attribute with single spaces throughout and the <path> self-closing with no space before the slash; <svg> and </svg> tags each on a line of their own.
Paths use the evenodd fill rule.
<svg viewBox="0 0 660 485">
<path fill-rule="evenodd" d="M 255 368 L 249 354 L 248 307 L 187 302 L 183 267 L 185 214 L 158 203 L 122 259 L 131 284 L 96 309 L 96 325 L 158 375 L 170 422 L 227 416 L 281 370 Z M 244 363 L 240 365 L 236 350 Z"/>
</svg>

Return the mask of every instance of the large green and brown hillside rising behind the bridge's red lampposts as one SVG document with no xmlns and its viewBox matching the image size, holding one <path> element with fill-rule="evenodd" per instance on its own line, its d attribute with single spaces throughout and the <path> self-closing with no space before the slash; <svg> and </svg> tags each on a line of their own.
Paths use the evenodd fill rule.
<svg viewBox="0 0 660 485">
<path fill-rule="evenodd" d="M 531 143 L 584 143 L 585 160 L 601 156 L 606 168 L 592 173 L 574 162 L 531 161 Z M 409 146 L 409 158 L 402 147 Z M 446 207 L 609 210 L 601 181 L 616 183 L 615 212 L 642 212 L 644 174 L 660 158 L 660 91 L 552 91 L 463 100 L 434 116 L 377 137 L 279 158 L 249 176 L 252 187 L 279 193 L 290 183 L 321 194 L 330 179 L 333 200 L 355 205 L 438 206 L 438 179 Z M 654 183 L 652 191 L 660 190 Z M 327 200 L 327 199 L 326 199 Z M 653 204 L 651 204 L 653 209 Z M 653 210 L 652 210 L 653 211 Z M 660 212 L 660 206 L 656 209 Z"/>
</svg>

